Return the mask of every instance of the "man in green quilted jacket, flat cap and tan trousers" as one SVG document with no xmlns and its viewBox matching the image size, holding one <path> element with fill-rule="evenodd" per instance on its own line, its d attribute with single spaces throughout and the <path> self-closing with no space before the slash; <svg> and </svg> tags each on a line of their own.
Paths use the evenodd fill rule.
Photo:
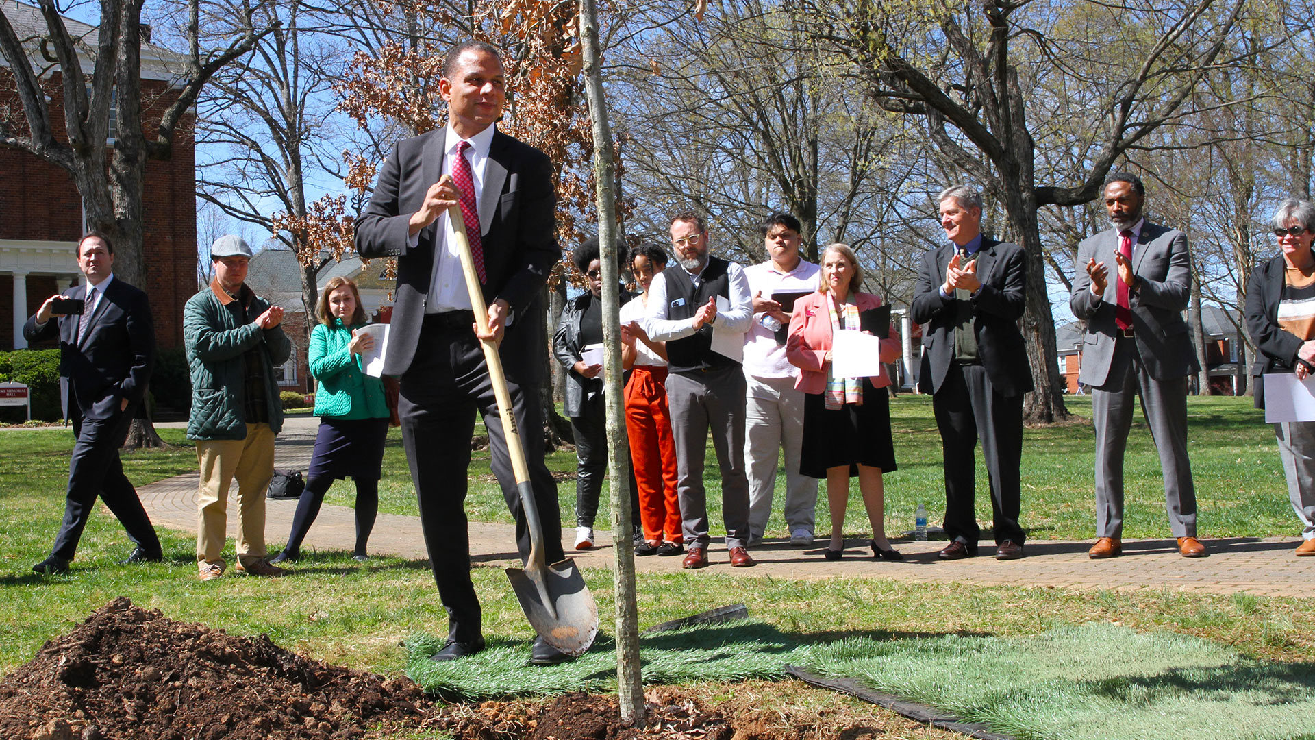
<svg viewBox="0 0 1315 740">
<path fill-rule="evenodd" d="M 183 340 L 192 370 L 192 417 L 201 467 L 197 491 L 196 565 L 201 581 L 224 575 L 227 499 L 238 511 L 238 573 L 283 575 L 266 561 L 264 491 L 274 477 L 274 437 L 283 406 L 274 367 L 292 354 L 283 333 L 283 308 L 245 284 L 251 246 L 238 236 L 210 248 L 214 279 L 183 309 Z"/>
</svg>

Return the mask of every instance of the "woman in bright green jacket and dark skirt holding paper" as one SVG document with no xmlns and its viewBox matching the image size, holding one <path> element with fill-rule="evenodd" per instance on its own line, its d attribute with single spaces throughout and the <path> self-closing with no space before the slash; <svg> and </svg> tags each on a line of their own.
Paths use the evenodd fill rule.
<svg viewBox="0 0 1315 740">
<path fill-rule="evenodd" d="M 364 373 L 360 353 L 373 340 L 360 332 L 366 312 L 356 283 L 334 278 L 320 294 L 320 324 L 310 332 L 310 374 L 320 382 L 316 416 L 320 432 L 306 470 L 306 489 L 292 517 L 288 546 L 271 562 L 301 557 L 301 540 L 320 514 L 329 486 L 339 478 L 356 483 L 356 548 L 352 556 L 366 560 L 366 541 L 379 512 L 379 478 L 388 435 L 388 402 L 384 383 Z"/>
</svg>

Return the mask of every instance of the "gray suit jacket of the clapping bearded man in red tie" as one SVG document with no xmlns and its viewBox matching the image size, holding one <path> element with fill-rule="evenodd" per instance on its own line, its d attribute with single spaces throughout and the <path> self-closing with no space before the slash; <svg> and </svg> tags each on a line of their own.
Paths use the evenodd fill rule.
<svg viewBox="0 0 1315 740">
<path fill-rule="evenodd" d="M 1119 284 L 1114 253 L 1118 249 L 1119 233 L 1112 228 L 1088 237 L 1077 246 L 1077 274 L 1073 277 L 1069 307 L 1073 316 L 1086 321 L 1078 381 L 1089 386 L 1105 384 L 1114 359 L 1114 309 Z M 1091 277 L 1086 274 L 1086 263 L 1091 258 L 1105 262 L 1109 270 L 1101 300 L 1091 295 Z M 1201 369 L 1197 353 L 1191 348 L 1187 323 L 1182 320 L 1191 298 L 1187 237 L 1177 229 L 1145 221 L 1132 248 L 1132 273 L 1139 280 L 1136 291 L 1128 295 L 1132 336 L 1147 373 L 1156 381 L 1173 381 L 1197 373 Z"/>
</svg>

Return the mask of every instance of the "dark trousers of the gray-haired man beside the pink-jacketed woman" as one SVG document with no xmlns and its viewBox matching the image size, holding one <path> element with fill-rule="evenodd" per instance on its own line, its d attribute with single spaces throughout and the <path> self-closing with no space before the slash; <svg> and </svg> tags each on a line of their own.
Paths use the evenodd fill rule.
<svg viewBox="0 0 1315 740">
<path fill-rule="evenodd" d="M 981 365 L 949 363 L 945 382 L 931 396 L 940 429 L 945 467 L 945 535 L 977 552 L 981 528 L 973 508 L 976 494 L 974 450 L 982 442 L 990 482 L 992 520 L 995 542 L 1022 545 L 1026 535 L 1018 524 L 1022 499 L 1019 466 L 1023 458 L 1023 396 L 1006 398 L 992 387 Z"/>
</svg>

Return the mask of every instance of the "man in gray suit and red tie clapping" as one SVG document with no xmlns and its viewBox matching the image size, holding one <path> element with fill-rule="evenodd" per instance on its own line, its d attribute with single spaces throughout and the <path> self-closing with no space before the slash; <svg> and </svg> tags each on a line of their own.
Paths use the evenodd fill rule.
<svg viewBox="0 0 1315 740">
<path fill-rule="evenodd" d="M 1093 558 L 1122 553 L 1123 452 L 1132 425 L 1132 399 L 1160 450 L 1169 527 L 1184 557 L 1206 554 L 1197 540 L 1197 492 L 1187 461 L 1187 375 L 1197 354 L 1182 311 L 1191 270 L 1187 237 L 1145 220 L 1145 186 L 1115 174 L 1105 184 L 1114 228 L 1077 248 L 1069 305 L 1086 321 L 1078 382 L 1091 386 L 1095 423 L 1095 521 Z"/>
</svg>

